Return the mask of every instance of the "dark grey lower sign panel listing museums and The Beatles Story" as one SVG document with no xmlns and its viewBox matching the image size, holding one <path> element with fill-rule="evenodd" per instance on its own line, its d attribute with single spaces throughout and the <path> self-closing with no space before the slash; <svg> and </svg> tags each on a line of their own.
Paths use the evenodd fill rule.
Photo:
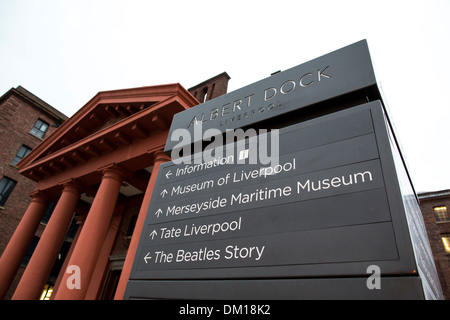
<svg viewBox="0 0 450 320">
<path fill-rule="evenodd" d="M 439 291 L 419 274 L 388 133 L 376 101 L 280 129 L 276 166 L 161 165 L 125 298 Z"/>
</svg>

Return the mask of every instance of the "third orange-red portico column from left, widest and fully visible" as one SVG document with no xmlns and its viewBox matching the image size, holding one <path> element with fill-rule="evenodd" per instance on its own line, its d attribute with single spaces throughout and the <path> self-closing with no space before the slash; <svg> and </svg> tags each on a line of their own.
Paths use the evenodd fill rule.
<svg viewBox="0 0 450 320">
<path fill-rule="evenodd" d="M 75 266 L 76 270 L 80 271 L 80 286 L 79 288 L 69 287 L 67 283 L 68 280 L 71 281 L 72 272 L 66 272 L 58 292 L 56 292 L 55 300 L 82 300 L 85 298 L 111 222 L 124 175 L 124 171 L 118 166 L 111 166 L 103 170 L 100 187 L 68 263 L 68 268 Z"/>
</svg>

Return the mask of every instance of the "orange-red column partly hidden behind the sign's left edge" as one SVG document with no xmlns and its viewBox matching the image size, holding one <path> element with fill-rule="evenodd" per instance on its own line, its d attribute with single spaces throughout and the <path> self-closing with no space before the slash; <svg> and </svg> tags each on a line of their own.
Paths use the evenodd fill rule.
<svg viewBox="0 0 450 320">
<path fill-rule="evenodd" d="M 153 188 L 155 187 L 156 176 L 158 175 L 159 167 L 164 162 L 170 161 L 170 158 L 163 152 L 157 151 L 155 153 L 155 161 L 153 165 L 152 175 L 145 190 L 144 199 L 142 200 L 141 209 L 139 210 L 136 226 L 134 227 L 133 237 L 131 238 L 130 246 L 128 247 L 127 256 L 123 265 L 122 273 L 120 275 L 119 284 L 117 285 L 115 300 L 122 300 L 125 294 L 128 278 L 130 277 L 131 267 L 133 266 L 134 256 L 136 255 L 139 238 L 144 227 L 145 216 L 147 214 L 150 199 L 152 197 Z"/>
</svg>

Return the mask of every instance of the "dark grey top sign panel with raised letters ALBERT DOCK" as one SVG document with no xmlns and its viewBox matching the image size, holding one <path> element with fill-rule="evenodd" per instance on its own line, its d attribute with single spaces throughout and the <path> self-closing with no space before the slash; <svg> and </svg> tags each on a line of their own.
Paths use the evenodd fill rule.
<svg viewBox="0 0 450 320">
<path fill-rule="evenodd" d="M 203 131 L 222 132 L 255 126 L 319 102 L 377 90 L 367 42 L 362 40 L 176 114 L 169 137 L 180 128 L 194 137 L 200 124 Z M 166 153 L 176 146 L 180 143 L 168 139 Z"/>
</svg>

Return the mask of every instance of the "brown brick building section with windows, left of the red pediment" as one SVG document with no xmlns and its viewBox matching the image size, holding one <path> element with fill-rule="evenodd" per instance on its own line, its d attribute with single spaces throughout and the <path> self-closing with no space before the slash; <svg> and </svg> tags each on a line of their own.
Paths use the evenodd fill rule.
<svg viewBox="0 0 450 320">
<path fill-rule="evenodd" d="M 0 254 L 30 204 L 29 193 L 36 186 L 34 181 L 19 174 L 17 164 L 66 119 L 64 114 L 21 86 L 10 89 L 0 98 Z M 40 224 L 36 238 L 44 224 L 45 221 Z M 25 263 L 26 259 L 14 284 Z"/>
</svg>

